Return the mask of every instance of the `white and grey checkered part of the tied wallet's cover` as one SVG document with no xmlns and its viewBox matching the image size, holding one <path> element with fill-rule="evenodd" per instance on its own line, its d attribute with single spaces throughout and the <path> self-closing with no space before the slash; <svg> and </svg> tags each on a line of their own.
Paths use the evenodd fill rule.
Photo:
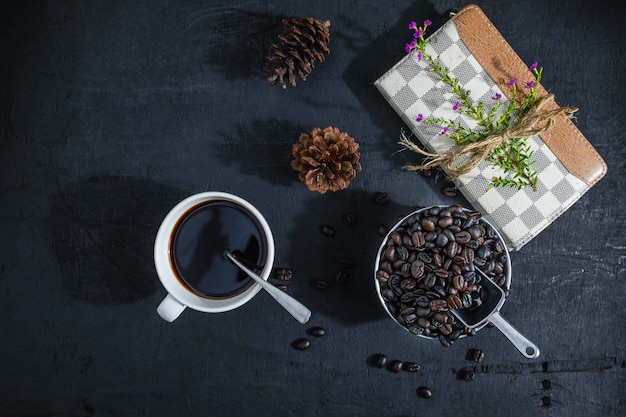
<svg viewBox="0 0 626 417">
<path fill-rule="evenodd" d="M 439 56 L 452 75 L 457 77 L 475 101 L 494 105 L 491 97 L 505 96 L 480 64 L 472 56 L 456 30 L 453 20 L 448 21 L 428 38 L 426 51 Z M 469 128 L 476 122 L 454 111 L 455 102 L 451 88 L 439 76 L 427 70 L 417 54 L 404 57 L 380 77 L 376 87 L 391 104 L 413 134 L 431 152 L 445 152 L 454 142 L 441 136 L 440 127 L 417 123 L 418 114 L 454 120 Z M 492 104 L 493 103 L 493 104 Z M 552 223 L 561 213 L 578 200 L 589 186 L 570 174 L 539 136 L 529 138 L 534 150 L 534 168 L 539 173 L 538 190 L 529 187 L 517 190 L 511 187 L 489 188 L 491 178 L 502 174 L 499 168 L 483 161 L 474 170 L 457 180 L 457 187 L 469 203 L 489 220 L 503 235 L 511 249 L 519 249 Z"/>
</svg>

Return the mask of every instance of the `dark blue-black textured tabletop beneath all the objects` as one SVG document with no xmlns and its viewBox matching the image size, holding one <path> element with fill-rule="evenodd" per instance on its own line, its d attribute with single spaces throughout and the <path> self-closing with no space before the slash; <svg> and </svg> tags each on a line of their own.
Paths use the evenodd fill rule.
<svg viewBox="0 0 626 417">
<path fill-rule="evenodd" d="M 559 103 L 580 108 L 578 127 L 609 165 L 512 255 L 502 313 L 539 345 L 528 361 L 495 329 L 447 349 L 412 337 L 372 283 L 379 224 L 464 202 L 401 170 L 411 159 L 396 153 L 402 123 L 372 84 L 403 55 L 408 22 L 439 26 L 463 3 L 2 2 L 0 415 L 625 415 L 626 13 L 611 4 L 480 3 L 525 62 L 544 66 Z M 284 16 L 332 22 L 328 60 L 286 91 L 260 71 Z M 363 172 L 317 195 L 297 182 L 290 148 L 327 125 L 360 143 Z M 205 190 L 265 215 L 310 325 L 265 293 L 229 313 L 157 316 L 159 222 Z M 374 205 L 376 191 L 391 202 Z M 355 266 L 339 287 L 343 256 Z M 318 278 L 327 292 L 311 287 Z M 307 336 L 312 326 L 326 335 Z M 301 337 L 305 351 L 291 345 Z M 471 348 L 483 362 L 467 360 Z M 378 369 L 376 353 L 421 371 Z"/>
</svg>

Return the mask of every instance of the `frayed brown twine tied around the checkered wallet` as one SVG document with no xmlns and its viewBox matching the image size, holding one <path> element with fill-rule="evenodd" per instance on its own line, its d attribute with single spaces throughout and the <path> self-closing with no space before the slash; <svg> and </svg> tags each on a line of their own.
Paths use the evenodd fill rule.
<svg viewBox="0 0 626 417">
<path fill-rule="evenodd" d="M 424 163 L 422 165 L 407 165 L 405 169 L 410 171 L 421 171 L 441 166 L 445 169 L 450 179 L 456 179 L 463 174 L 467 174 L 476 168 L 481 161 L 486 159 L 494 149 L 502 145 L 506 141 L 514 138 L 528 138 L 535 136 L 552 128 L 556 119 L 565 116 L 568 119 L 574 117 L 574 113 L 578 111 L 575 107 L 557 107 L 552 110 L 545 111 L 543 108 L 546 103 L 554 98 L 550 94 L 541 99 L 528 109 L 528 111 L 513 123 L 508 129 L 503 130 L 486 137 L 484 140 L 472 142 L 465 146 L 453 147 L 444 153 L 431 153 L 424 151 L 415 143 L 413 143 L 404 134 L 400 139 L 400 144 L 406 148 L 424 155 Z M 466 157 L 462 161 L 458 161 L 460 157 Z"/>
</svg>

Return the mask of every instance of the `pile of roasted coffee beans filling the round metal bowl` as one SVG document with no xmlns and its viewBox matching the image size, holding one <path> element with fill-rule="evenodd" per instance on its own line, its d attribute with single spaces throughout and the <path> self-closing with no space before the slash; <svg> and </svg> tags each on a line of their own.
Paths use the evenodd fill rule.
<svg viewBox="0 0 626 417">
<path fill-rule="evenodd" d="M 431 207 L 405 218 L 389 233 L 377 260 L 380 295 L 390 314 L 411 333 L 449 346 L 473 335 L 450 313 L 479 306 L 480 268 L 507 290 L 504 243 L 477 211 L 460 205 Z"/>
</svg>

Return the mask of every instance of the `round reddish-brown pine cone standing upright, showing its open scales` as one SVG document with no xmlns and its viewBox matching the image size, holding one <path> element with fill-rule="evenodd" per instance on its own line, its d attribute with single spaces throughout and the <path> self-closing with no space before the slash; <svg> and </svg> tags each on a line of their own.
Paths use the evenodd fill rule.
<svg viewBox="0 0 626 417">
<path fill-rule="evenodd" d="M 316 127 L 310 135 L 301 133 L 293 145 L 291 167 L 311 191 L 343 190 L 361 171 L 358 149 L 354 138 L 336 127 Z"/>
</svg>

